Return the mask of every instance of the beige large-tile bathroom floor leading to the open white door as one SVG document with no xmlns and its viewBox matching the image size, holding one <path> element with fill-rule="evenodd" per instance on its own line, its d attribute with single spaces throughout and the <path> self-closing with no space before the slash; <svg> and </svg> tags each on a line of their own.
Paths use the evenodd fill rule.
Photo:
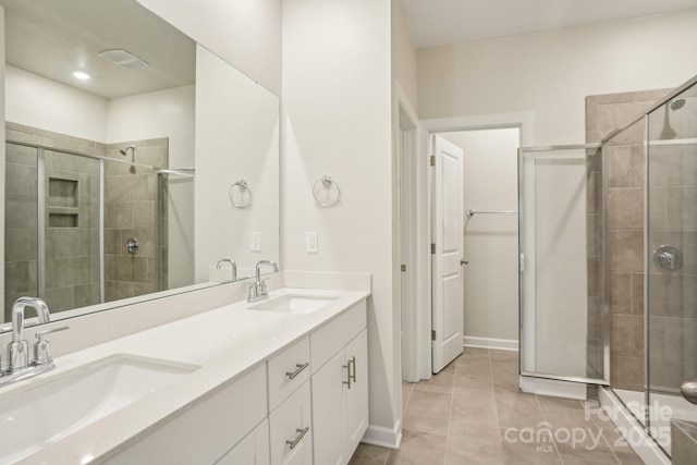
<svg viewBox="0 0 697 465">
<path fill-rule="evenodd" d="M 465 352 L 403 384 L 399 450 L 360 444 L 350 465 L 640 465 L 597 405 L 525 394 L 517 353 Z"/>
</svg>

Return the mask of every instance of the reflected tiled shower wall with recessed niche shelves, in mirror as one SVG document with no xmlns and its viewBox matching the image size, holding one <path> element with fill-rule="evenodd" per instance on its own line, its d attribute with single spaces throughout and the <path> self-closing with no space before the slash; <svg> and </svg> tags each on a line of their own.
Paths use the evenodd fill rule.
<svg viewBox="0 0 697 465">
<path fill-rule="evenodd" d="M 8 139 L 103 155 L 91 140 L 7 122 Z M 46 151 L 46 294 L 51 311 L 99 302 L 99 164 Z M 38 295 L 36 149 L 8 144 L 4 317 L 22 295 Z"/>
</svg>

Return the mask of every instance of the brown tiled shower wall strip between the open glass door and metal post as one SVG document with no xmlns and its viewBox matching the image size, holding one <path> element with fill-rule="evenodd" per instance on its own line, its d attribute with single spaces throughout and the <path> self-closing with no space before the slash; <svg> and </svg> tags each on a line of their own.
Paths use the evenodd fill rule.
<svg viewBox="0 0 697 465">
<path fill-rule="evenodd" d="M 586 98 L 586 142 L 599 143 L 628 124 L 665 90 L 626 93 Z M 592 315 L 609 318 L 610 384 L 644 390 L 644 136 L 641 121 L 614 137 L 602 149 L 600 162 L 589 170 L 589 205 L 603 205 L 604 215 L 589 218 L 589 236 L 604 247 L 604 259 L 589 257 L 589 295 Z M 604 199 L 604 200 L 603 200 Z M 602 211 L 602 209 L 600 210 Z M 591 249 L 591 248 L 589 248 Z M 592 249 L 591 249 L 592 250 Z M 595 267 L 594 267 L 595 265 Z M 604 286 L 603 292 L 599 292 Z M 596 294 L 596 295 L 592 295 Z M 604 297 L 602 297 L 604 295 Z M 595 332 L 603 331 L 601 318 Z"/>
</svg>

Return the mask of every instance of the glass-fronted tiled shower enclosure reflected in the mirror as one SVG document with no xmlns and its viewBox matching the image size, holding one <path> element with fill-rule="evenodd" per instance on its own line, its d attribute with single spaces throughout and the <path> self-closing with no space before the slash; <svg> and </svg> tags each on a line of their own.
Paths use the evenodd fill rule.
<svg viewBox="0 0 697 465">
<path fill-rule="evenodd" d="M 56 313 L 167 289 L 167 139 L 7 123 L 7 140 L 4 321 L 22 295 Z"/>
</svg>

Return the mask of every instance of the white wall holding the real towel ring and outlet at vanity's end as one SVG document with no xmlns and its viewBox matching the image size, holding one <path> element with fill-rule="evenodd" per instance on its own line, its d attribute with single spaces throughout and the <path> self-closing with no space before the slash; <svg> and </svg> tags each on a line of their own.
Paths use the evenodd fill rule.
<svg viewBox="0 0 697 465">
<path fill-rule="evenodd" d="M 393 308 L 389 0 L 283 2 L 282 223 L 286 269 L 367 271 L 370 431 L 401 416 L 400 320 Z M 331 175 L 341 203 L 319 207 Z M 305 253 L 305 233 L 319 252 Z M 398 272 L 399 274 L 399 272 Z"/>
</svg>

